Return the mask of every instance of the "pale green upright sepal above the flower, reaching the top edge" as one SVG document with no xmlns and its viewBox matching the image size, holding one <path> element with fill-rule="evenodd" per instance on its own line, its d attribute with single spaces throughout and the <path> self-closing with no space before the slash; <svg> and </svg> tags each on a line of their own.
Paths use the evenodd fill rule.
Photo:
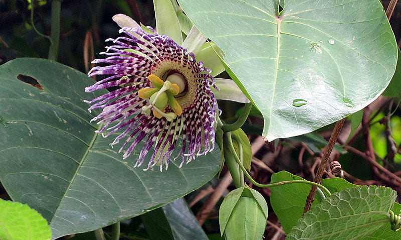
<svg viewBox="0 0 401 240">
<path fill-rule="evenodd" d="M 170 0 L 153 0 L 153 6 L 157 34 L 167 35 L 177 44 L 181 45 L 181 28 Z"/>
</svg>

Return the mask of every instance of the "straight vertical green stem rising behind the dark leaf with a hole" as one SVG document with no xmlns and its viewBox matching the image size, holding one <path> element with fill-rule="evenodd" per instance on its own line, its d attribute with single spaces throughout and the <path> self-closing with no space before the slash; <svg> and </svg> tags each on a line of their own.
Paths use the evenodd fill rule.
<svg viewBox="0 0 401 240">
<path fill-rule="evenodd" d="M 53 0 L 52 1 L 52 30 L 51 30 L 51 38 L 52 45 L 49 49 L 49 60 L 56 61 L 57 55 L 59 51 L 59 42 L 60 42 L 60 12 L 61 12 L 61 0 Z"/>
</svg>

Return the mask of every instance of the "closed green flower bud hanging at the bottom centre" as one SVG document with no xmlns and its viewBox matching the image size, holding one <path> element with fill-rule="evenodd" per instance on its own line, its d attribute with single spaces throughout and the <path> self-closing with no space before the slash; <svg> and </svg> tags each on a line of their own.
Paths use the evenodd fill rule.
<svg viewBox="0 0 401 240">
<path fill-rule="evenodd" d="M 262 239 L 268 215 L 264 197 L 247 185 L 231 191 L 219 211 L 220 231 L 226 239 Z"/>
</svg>

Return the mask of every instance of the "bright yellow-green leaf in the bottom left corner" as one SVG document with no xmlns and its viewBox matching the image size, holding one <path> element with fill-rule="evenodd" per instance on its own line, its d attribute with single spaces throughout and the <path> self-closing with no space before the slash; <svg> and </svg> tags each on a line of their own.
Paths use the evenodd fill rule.
<svg viewBox="0 0 401 240">
<path fill-rule="evenodd" d="M 0 239 L 50 239 L 45 218 L 26 204 L 0 199 Z"/>
</svg>

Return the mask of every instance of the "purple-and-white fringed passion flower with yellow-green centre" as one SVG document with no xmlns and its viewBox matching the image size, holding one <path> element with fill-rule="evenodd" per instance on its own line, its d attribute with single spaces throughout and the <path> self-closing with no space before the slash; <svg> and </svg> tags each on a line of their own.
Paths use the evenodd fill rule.
<svg viewBox="0 0 401 240">
<path fill-rule="evenodd" d="M 211 70 L 195 55 L 165 35 L 145 29 L 123 27 L 113 44 L 106 47 L 104 59 L 95 59 L 96 66 L 88 73 L 106 75 L 87 87 L 86 92 L 114 87 L 117 89 L 86 101 L 89 111 L 103 111 L 92 121 L 102 128 L 103 137 L 119 135 L 111 143 L 124 143 L 123 159 L 144 142 L 134 167 L 140 166 L 149 151 L 150 167 L 163 164 L 167 169 L 172 151 L 182 136 L 178 156 L 181 164 L 198 155 L 205 155 L 215 147 L 216 112 L 219 110 L 212 88 L 217 88 Z M 148 31 L 149 30 L 149 31 Z"/>
</svg>

